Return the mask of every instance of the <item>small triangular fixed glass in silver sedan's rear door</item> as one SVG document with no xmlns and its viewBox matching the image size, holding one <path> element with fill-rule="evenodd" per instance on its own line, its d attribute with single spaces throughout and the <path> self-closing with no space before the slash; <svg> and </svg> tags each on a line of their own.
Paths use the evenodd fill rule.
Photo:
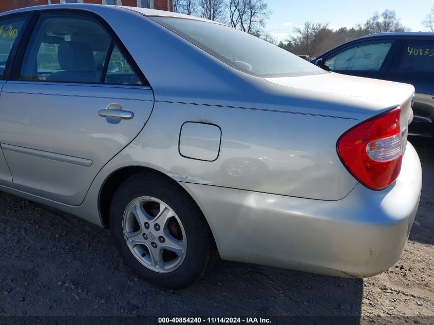
<svg viewBox="0 0 434 325">
<path fill-rule="evenodd" d="M 111 52 L 104 82 L 120 85 L 142 85 L 140 78 L 133 71 L 117 46 Z"/>
</svg>

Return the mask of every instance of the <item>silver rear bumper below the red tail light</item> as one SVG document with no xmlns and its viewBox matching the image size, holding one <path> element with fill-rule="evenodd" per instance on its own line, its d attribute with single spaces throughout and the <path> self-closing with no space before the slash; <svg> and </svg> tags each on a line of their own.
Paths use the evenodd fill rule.
<svg viewBox="0 0 434 325">
<path fill-rule="evenodd" d="M 401 257 L 419 205 L 422 170 L 408 144 L 394 184 L 378 192 L 357 184 L 338 201 L 181 185 L 202 209 L 223 259 L 368 277 Z"/>
</svg>

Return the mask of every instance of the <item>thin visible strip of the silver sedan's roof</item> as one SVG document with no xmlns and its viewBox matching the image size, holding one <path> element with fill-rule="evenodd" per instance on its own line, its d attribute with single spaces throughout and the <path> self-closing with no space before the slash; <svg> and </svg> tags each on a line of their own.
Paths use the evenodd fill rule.
<svg viewBox="0 0 434 325">
<path fill-rule="evenodd" d="M 19 13 L 19 12 L 26 12 L 26 11 L 34 11 L 34 10 L 46 10 L 46 9 L 84 9 L 84 10 L 90 10 L 96 13 L 99 13 L 102 9 L 110 8 L 111 10 L 131 10 L 138 12 L 145 16 L 159 16 L 159 17 L 177 17 L 177 18 L 184 18 L 184 19 L 190 19 L 195 21 L 203 21 L 203 22 L 210 22 L 214 24 L 220 24 L 214 21 L 206 20 L 204 18 L 196 17 L 196 16 L 190 16 L 185 15 L 181 13 L 176 13 L 172 11 L 165 11 L 165 10 L 156 10 L 156 9 L 147 9 L 147 8 L 138 8 L 138 7 L 128 7 L 128 6 L 112 6 L 112 5 L 96 5 L 96 4 L 53 4 L 53 5 L 42 5 L 42 6 L 32 6 L 32 7 L 25 7 L 15 10 L 9 10 L 0 13 L 0 16 L 8 15 L 11 13 Z M 223 25 L 223 24 L 221 24 Z"/>
</svg>

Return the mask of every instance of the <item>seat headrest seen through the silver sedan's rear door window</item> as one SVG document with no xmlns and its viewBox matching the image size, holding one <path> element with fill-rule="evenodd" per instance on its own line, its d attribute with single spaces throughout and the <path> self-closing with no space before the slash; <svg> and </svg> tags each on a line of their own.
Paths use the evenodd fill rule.
<svg viewBox="0 0 434 325">
<path fill-rule="evenodd" d="M 96 71 L 95 58 L 89 44 L 62 42 L 58 51 L 59 64 L 66 71 Z"/>
</svg>

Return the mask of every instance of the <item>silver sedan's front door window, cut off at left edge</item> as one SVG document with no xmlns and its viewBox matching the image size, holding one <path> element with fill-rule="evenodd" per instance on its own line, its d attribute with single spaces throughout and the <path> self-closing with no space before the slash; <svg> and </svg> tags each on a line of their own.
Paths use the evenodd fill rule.
<svg viewBox="0 0 434 325">
<path fill-rule="evenodd" d="M 25 19 L 21 17 L 0 21 L 0 78 L 3 77 L 9 53 Z"/>
</svg>

